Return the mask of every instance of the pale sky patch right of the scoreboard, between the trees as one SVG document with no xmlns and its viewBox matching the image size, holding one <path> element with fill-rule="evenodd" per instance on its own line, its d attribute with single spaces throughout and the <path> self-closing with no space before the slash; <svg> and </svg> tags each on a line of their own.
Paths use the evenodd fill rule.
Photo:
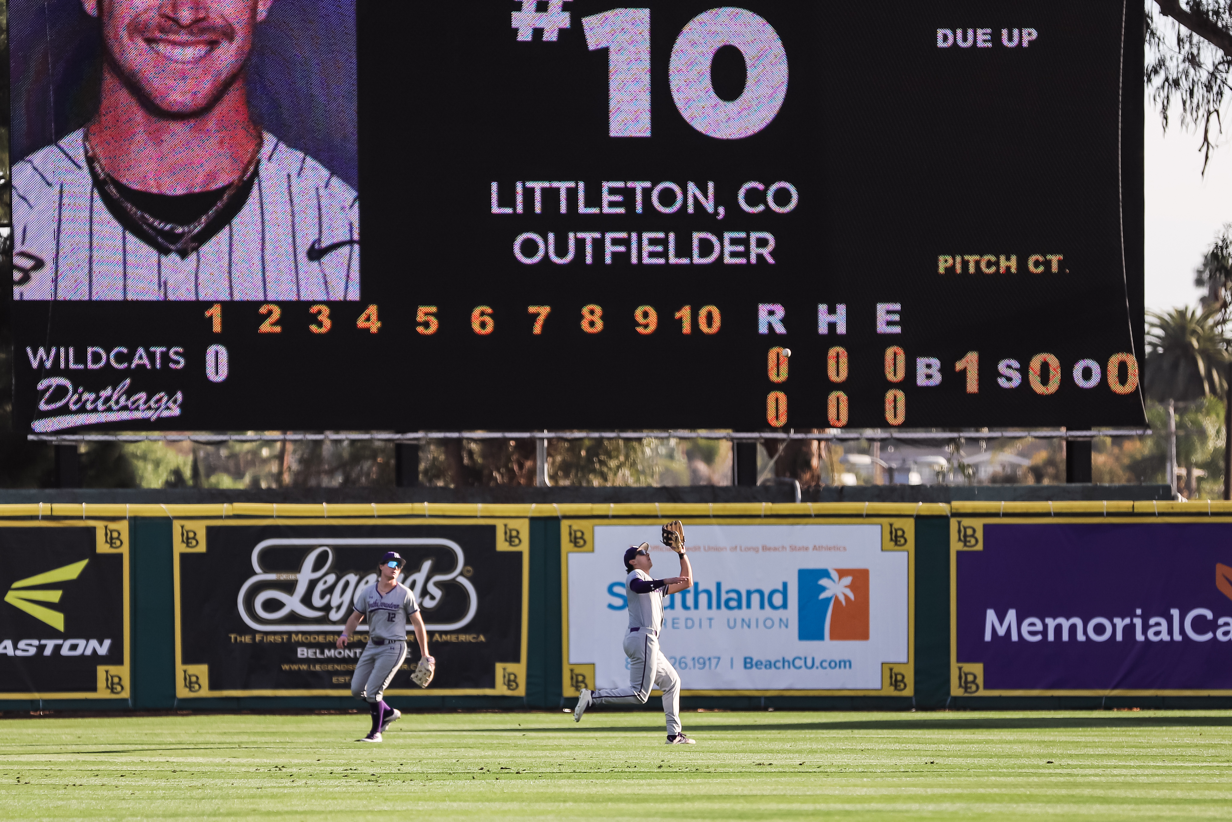
<svg viewBox="0 0 1232 822">
<path fill-rule="evenodd" d="M 1228 136 L 1232 137 L 1232 136 Z M 1147 105 L 1146 193 L 1147 311 L 1196 306 L 1194 269 L 1225 223 L 1232 223 L 1232 139 L 1215 150 L 1202 176 L 1202 142 L 1174 118 L 1167 136 Z"/>
</svg>

